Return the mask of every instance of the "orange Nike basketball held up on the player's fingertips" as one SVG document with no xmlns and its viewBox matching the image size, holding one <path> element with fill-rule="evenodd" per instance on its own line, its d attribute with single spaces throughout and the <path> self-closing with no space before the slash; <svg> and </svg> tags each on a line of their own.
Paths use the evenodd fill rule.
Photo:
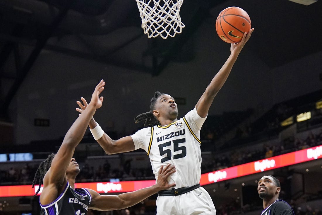
<svg viewBox="0 0 322 215">
<path fill-rule="evenodd" d="M 251 19 L 242 8 L 227 7 L 217 17 L 216 31 L 227 43 L 238 43 L 245 32 L 251 29 Z"/>
</svg>

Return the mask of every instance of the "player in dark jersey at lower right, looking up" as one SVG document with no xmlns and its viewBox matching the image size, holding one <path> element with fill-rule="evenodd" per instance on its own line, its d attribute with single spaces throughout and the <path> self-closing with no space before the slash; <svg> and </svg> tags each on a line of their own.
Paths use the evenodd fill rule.
<svg viewBox="0 0 322 215">
<path fill-rule="evenodd" d="M 261 215 L 294 215 L 291 206 L 286 201 L 279 200 L 280 190 L 279 180 L 271 175 L 264 175 L 258 181 L 257 191 L 264 208 Z"/>
</svg>

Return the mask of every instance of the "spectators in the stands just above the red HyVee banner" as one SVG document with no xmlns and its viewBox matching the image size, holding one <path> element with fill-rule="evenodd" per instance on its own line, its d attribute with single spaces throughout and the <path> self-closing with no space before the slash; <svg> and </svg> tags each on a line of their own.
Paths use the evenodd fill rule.
<svg viewBox="0 0 322 215">
<path fill-rule="evenodd" d="M 202 173 L 216 171 L 321 144 L 322 130 L 317 134 L 310 132 L 307 138 L 301 139 L 290 137 L 283 140 L 283 142 L 277 146 L 264 146 L 262 150 L 232 150 L 225 155 L 214 155 L 213 160 L 202 163 L 201 171 Z M 38 164 L 29 165 L 27 163 L 20 169 L 11 167 L 7 170 L 2 170 L 0 171 L 0 183 L 11 182 L 12 184 L 28 184 L 33 180 L 37 168 Z M 99 165 L 98 168 L 94 168 L 87 162 L 83 162 L 83 165 L 81 165 L 80 168 L 81 172 L 78 175 L 76 182 L 102 181 L 109 179 L 144 180 L 153 179 L 154 177 L 150 166 L 147 166 L 146 168 L 134 168 L 131 166 L 131 160 L 126 160 L 123 164 L 123 168 L 111 167 L 108 160 L 102 165 Z"/>
</svg>

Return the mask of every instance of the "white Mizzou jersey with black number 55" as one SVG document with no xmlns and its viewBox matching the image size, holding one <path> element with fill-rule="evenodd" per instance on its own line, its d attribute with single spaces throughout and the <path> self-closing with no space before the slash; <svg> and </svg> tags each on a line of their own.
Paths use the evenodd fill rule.
<svg viewBox="0 0 322 215">
<path fill-rule="evenodd" d="M 175 165 L 169 183 L 175 188 L 190 187 L 200 182 L 200 129 L 206 118 L 196 108 L 185 117 L 166 125 L 143 128 L 132 135 L 135 148 L 143 148 L 150 157 L 156 180 L 161 166 Z"/>
</svg>

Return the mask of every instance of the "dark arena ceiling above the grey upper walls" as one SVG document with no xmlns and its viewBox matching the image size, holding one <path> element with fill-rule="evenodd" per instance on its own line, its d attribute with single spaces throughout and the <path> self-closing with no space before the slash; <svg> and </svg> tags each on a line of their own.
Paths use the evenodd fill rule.
<svg viewBox="0 0 322 215">
<path fill-rule="evenodd" d="M 157 76 L 170 61 L 191 60 L 196 50 L 190 48 L 190 38 L 203 22 L 216 19 L 227 6 L 248 12 L 256 28 L 256 37 L 252 38 L 255 45 L 250 51 L 268 67 L 279 67 L 322 50 L 322 18 L 316 12 L 322 8 L 322 1 L 302 5 L 288 0 L 185 0 L 180 15 L 186 27 L 181 34 L 164 40 L 149 39 L 143 33 L 135 0 L 1 0 L 0 83 L 12 82 L 9 89 L 1 90 L 3 118 L 42 50 Z M 57 42 L 67 37 L 69 42 Z M 148 64 L 124 60 L 122 53 L 127 47 L 147 40 L 149 46 L 137 55 L 149 57 Z M 222 43 L 220 39 L 217 42 Z M 26 58 L 22 57 L 22 46 L 29 47 Z M 14 73 L 3 69 L 8 64 L 15 68 Z"/>
</svg>

